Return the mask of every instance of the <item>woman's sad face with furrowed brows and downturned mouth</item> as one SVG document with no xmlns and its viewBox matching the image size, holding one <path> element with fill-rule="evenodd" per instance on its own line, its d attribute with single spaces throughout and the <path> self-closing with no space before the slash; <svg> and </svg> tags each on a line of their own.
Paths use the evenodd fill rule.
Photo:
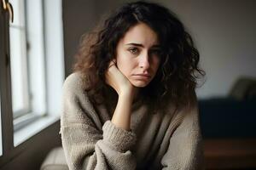
<svg viewBox="0 0 256 170">
<path fill-rule="evenodd" d="M 154 78 L 160 65 L 160 44 L 146 24 L 131 27 L 117 45 L 117 67 L 132 85 L 143 88 Z"/>
</svg>

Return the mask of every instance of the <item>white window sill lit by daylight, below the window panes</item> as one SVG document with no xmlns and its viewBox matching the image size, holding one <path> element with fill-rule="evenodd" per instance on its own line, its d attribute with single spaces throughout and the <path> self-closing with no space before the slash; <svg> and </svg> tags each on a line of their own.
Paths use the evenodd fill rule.
<svg viewBox="0 0 256 170">
<path fill-rule="evenodd" d="M 60 120 L 60 116 L 44 116 L 39 118 L 37 121 L 34 121 L 22 127 L 14 133 L 14 145 L 15 147 L 19 144 L 25 142 L 27 139 L 30 139 L 33 135 L 39 133 L 44 128 L 49 127 L 49 125 Z"/>
</svg>

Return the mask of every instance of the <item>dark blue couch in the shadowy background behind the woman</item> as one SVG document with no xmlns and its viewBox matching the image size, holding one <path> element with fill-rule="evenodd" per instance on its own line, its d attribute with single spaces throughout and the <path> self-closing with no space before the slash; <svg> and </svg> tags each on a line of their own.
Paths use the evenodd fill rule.
<svg viewBox="0 0 256 170">
<path fill-rule="evenodd" d="M 256 99 L 199 99 L 201 133 L 209 138 L 256 138 Z"/>
</svg>

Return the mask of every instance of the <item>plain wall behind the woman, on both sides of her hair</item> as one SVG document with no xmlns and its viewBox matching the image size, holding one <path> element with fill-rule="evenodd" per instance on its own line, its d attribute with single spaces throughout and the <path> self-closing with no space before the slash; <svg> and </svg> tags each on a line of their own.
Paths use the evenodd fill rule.
<svg viewBox="0 0 256 170">
<path fill-rule="evenodd" d="M 67 70 L 82 30 L 89 28 L 107 11 L 130 1 L 96 0 L 66 2 L 64 32 Z M 201 54 L 206 82 L 197 89 L 199 98 L 225 96 L 238 77 L 256 77 L 256 1 L 253 0 L 158 0 L 171 8 L 191 32 Z M 108 5 L 106 5 L 108 4 Z M 94 8 L 94 10 L 91 10 Z M 65 10 L 66 9 L 66 10 Z M 76 15 L 80 14 L 80 20 Z M 84 21 L 88 21 L 84 25 Z M 65 19 L 64 19 L 65 23 Z M 84 27 L 87 26 L 87 27 Z M 71 29 L 72 27 L 75 27 Z M 80 32 L 79 32 L 80 31 Z M 72 53 L 71 53 L 72 52 Z M 67 56 L 68 55 L 68 56 Z"/>
</svg>

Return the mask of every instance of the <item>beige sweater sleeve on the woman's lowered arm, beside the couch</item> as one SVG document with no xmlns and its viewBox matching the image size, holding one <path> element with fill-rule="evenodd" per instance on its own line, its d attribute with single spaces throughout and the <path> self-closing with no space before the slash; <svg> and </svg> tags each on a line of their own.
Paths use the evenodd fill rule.
<svg viewBox="0 0 256 170">
<path fill-rule="evenodd" d="M 176 130 L 161 159 L 162 169 L 204 169 L 197 104 L 178 112 L 173 122 Z"/>
</svg>

